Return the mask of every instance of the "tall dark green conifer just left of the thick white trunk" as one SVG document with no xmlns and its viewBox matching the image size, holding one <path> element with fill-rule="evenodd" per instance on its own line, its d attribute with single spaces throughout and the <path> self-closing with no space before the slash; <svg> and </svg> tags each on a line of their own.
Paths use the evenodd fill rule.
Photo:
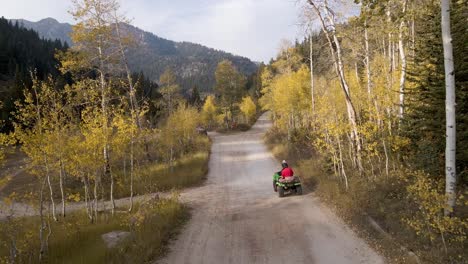
<svg viewBox="0 0 468 264">
<path fill-rule="evenodd" d="M 420 10 L 416 29 L 419 36 L 409 79 L 414 89 L 409 92 L 406 129 L 412 139 L 411 163 L 433 175 L 442 175 L 445 144 L 439 140 L 445 132 L 445 90 L 440 10 L 435 1 Z M 428 118 L 430 117 L 430 118 Z"/>
</svg>

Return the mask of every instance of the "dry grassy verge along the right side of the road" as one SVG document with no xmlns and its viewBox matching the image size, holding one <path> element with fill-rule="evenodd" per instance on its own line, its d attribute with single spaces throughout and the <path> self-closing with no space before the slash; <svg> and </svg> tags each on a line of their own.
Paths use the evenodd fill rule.
<svg viewBox="0 0 468 264">
<path fill-rule="evenodd" d="M 414 255 L 423 263 L 466 263 L 468 252 L 464 246 L 453 244 L 445 252 L 439 241 L 428 242 L 419 237 L 404 218 L 410 218 L 419 210 L 408 202 L 406 182 L 398 171 L 388 177 L 369 180 L 352 177 L 347 191 L 341 179 L 333 176 L 329 163 L 303 144 L 285 144 L 277 134 L 269 132 L 265 142 L 278 159 L 287 159 L 301 175 L 305 185 L 314 190 L 322 201 L 332 208 L 351 228 L 382 255 L 389 263 L 418 263 Z M 378 232 L 370 223 L 370 218 L 388 234 Z M 414 255 L 412 256 L 412 252 Z M 408 254 L 410 253 L 410 254 Z"/>
</svg>

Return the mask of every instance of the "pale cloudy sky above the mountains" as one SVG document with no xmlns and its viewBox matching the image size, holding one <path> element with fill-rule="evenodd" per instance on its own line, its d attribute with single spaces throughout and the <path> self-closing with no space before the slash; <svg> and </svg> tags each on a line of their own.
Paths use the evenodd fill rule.
<svg viewBox="0 0 468 264">
<path fill-rule="evenodd" d="M 282 39 L 302 39 L 297 0 L 120 0 L 132 24 L 160 37 L 268 62 Z M 67 0 L 0 0 L 0 16 L 73 23 Z"/>
</svg>

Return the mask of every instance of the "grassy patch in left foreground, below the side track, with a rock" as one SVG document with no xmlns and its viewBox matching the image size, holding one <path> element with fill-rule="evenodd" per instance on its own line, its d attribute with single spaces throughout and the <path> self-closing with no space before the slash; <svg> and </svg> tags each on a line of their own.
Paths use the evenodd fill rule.
<svg viewBox="0 0 468 264">
<path fill-rule="evenodd" d="M 144 263 L 164 255 L 167 242 L 189 218 L 189 209 L 177 196 L 136 206 L 132 213 L 101 213 L 90 224 L 85 212 L 74 212 L 59 222 L 47 220 L 50 236 L 45 263 Z M 36 263 L 40 244 L 39 217 L 0 222 L 0 262 Z M 131 232 L 118 248 L 108 249 L 101 236 L 111 231 Z M 45 232 L 47 235 L 48 231 Z"/>
</svg>

